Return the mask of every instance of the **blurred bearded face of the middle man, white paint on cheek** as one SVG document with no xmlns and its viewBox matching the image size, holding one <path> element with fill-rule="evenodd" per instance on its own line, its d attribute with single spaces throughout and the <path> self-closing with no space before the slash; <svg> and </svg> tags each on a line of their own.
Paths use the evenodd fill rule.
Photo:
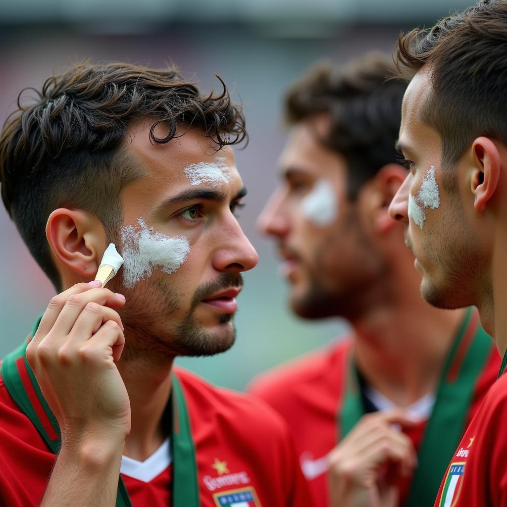
<svg viewBox="0 0 507 507">
<path fill-rule="evenodd" d="M 293 127 L 279 160 L 281 182 L 258 220 L 277 241 L 291 307 L 304 318 L 353 316 L 384 268 L 365 206 L 347 197 L 345 159 L 321 142 L 328 128 L 327 116 Z"/>
</svg>

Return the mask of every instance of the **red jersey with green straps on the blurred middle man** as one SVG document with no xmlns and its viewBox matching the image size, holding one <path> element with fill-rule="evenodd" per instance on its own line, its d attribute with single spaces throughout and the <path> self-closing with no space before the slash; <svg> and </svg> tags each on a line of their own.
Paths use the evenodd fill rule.
<svg viewBox="0 0 507 507">
<path fill-rule="evenodd" d="M 468 310 L 428 417 L 406 430 L 420 466 L 412 480 L 400 482 L 400 505 L 433 503 L 454 449 L 499 366 L 493 340 L 480 327 L 477 312 Z M 328 453 L 365 413 L 378 408 L 365 394 L 368 387 L 355 366 L 353 339 L 346 339 L 260 376 L 249 388 L 289 423 L 316 505 L 328 505 Z"/>
</svg>

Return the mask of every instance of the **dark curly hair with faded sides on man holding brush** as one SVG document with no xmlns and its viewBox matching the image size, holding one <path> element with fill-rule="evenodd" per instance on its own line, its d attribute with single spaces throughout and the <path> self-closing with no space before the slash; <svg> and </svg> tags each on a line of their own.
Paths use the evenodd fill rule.
<svg viewBox="0 0 507 507">
<path fill-rule="evenodd" d="M 71 66 L 27 89 L 37 97 L 7 119 L 0 134 L 2 199 L 32 256 L 60 287 L 45 235 L 60 206 L 89 211 L 117 237 L 123 219 L 121 191 L 140 168 L 122 149 L 129 124 L 153 118 L 152 143 L 169 142 L 178 125 L 209 137 L 220 149 L 246 139 L 241 107 L 223 91 L 201 95 L 176 67 L 155 70 L 127 63 Z M 167 125 L 156 137 L 155 127 Z"/>
</svg>

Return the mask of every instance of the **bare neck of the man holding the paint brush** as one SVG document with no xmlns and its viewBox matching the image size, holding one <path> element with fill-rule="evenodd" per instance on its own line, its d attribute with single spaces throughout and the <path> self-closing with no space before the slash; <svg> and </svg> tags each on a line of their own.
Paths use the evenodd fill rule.
<svg viewBox="0 0 507 507">
<path fill-rule="evenodd" d="M 173 358 L 120 360 L 118 369 L 130 399 L 131 430 L 123 454 L 137 461 L 151 456 L 170 434 L 164 418 L 171 393 Z"/>
</svg>

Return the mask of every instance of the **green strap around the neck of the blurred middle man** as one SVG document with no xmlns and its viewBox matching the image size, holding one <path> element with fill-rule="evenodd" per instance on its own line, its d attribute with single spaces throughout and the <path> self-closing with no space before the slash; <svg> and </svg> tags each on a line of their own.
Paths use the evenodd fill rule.
<svg viewBox="0 0 507 507">
<path fill-rule="evenodd" d="M 469 336 L 469 333 L 474 333 Z M 460 345 L 466 347 L 460 348 Z M 491 338 L 479 325 L 477 313 L 468 309 L 446 358 L 436 399 L 421 442 L 418 461 L 406 505 L 432 505 L 449 460 L 459 444 L 466 416 L 474 395 L 474 386 L 491 351 Z M 463 354 L 463 355 L 461 355 Z M 455 361 L 461 360 L 454 371 Z M 364 415 L 357 371 L 353 360 L 347 377 L 340 418 L 341 438 Z"/>
</svg>

